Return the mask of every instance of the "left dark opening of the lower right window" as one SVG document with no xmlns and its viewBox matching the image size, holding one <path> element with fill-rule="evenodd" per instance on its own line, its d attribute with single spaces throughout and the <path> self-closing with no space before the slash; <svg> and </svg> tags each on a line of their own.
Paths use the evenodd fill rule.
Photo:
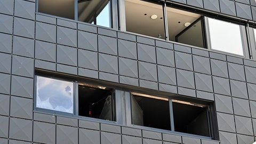
<svg viewBox="0 0 256 144">
<path fill-rule="evenodd" d="M 171 130 L 169 101 L 139 95 L 133 95 L 133 97 L 135 101 L 132 98 L 132 124 Z M 142 119 L 138 119 L 138 115 Z"/>
</svg>

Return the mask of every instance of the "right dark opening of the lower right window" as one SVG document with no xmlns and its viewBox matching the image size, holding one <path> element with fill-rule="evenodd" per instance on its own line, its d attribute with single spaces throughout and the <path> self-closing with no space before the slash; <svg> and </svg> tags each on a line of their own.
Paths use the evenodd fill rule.
<svg viewBox="0 0 256 144">
<path fill-rule="evenodd" d="M 210 137 L 207 107 L 172 102 L 174 130 Z"/>
</svg>

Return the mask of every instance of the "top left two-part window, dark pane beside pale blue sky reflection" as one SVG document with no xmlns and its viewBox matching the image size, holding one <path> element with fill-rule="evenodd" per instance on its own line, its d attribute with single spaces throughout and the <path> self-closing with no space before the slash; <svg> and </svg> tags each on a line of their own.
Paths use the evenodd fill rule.
<svg viewBox="0 0 256 144">
<path fill-rule="evenodd" d="M 111 27 L 109 0 L 38 0 L 38 12 Z"/>
</svg>

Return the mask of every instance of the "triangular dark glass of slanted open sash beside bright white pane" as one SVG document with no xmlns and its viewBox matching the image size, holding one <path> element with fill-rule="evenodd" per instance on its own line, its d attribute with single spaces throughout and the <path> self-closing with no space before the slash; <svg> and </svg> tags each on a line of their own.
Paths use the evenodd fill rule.
<svg viewBox="0 0 256 144">
<path fill-rule="evenodd" d="M 176 36 L 179 43 L 204 47 L 201 19 Z"/>
</svg>

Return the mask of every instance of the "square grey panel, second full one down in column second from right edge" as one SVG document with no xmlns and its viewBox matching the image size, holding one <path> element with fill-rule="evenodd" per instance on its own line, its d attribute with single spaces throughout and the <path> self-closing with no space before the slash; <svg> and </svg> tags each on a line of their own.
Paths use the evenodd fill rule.
<svg viewBox="0 0 256 144">
<path fill-rule="evenodd" d="M 248 99 L 245 82 L 230 80 L 231 94 L 233 97 Z"/>
</svg>

